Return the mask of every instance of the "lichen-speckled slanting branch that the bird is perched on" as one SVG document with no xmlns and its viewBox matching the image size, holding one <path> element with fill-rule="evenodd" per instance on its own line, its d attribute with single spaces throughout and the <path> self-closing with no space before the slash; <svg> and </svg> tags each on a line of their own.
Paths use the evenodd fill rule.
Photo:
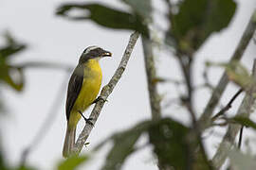
<svg viewBox="0 0 256 170">
<path fill-rule="evenodd" d="M 92 123 L 95 125 L 98 117 L 100 116 L 101 110 L 104 106 L 105 100 L 107 99 L 107 97 L 110 95 L 110 93 L 113 92 L 115 86 L 117 85 L 117 83 L 119 82 L 119 79 L 122 75 L 122 73 L 124 72 L 127 62 L 130 59 L 131 53 L 134 49 L 134 46 L 137 42 L 137 39 L 139 37 L 139 33 L 138 32 L 134 32 L 131 37 L 130 37 L 130 41 L 128 42 L 128 45 L 126 46 L 126 49 L 124 51 L 124 54 L 122 56 L 122 59 L 119 63 L 119 67 L 116 70 L 114 76 L 112 76 L 112 78 L 110 79 L 110 81 L 108 82 L 107 85 L 105 85 L 102 90 L 101 90 L 101 98 L 103 100 L 100 100 L 99 102 L 96 103 L 94 109 L 92 110 L 90 117 L 92 119 Z M 79 138 L 74 146 L 74 148 L 72 149 L 72 151 L 76 154 L 79 154 L 82 150 L 82 146 L 83 144 L 85 144 L 85 141 L 87 140 L 87 138 L 89 137 L 91 130 L 92 130 L 93 126 L 90 124 L 86 124 L 85 127 L 83 127 L 81 134 L 79 135 Z"/>
</svg>

